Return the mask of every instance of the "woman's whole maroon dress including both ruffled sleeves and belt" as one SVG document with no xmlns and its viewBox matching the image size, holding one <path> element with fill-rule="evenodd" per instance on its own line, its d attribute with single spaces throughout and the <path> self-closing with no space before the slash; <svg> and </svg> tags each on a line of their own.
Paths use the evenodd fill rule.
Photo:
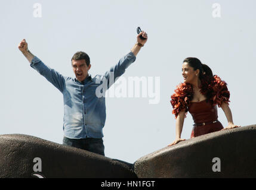
<svg viewBox="0 0 256 190">
<path fill-rule="evenodd" d="M 208 134 L 209 132 L 220 131 L 223 125 L 218 121 L 217 106 L 221 103 L 229 104 L 230 93 L 227 89 L 227 83 L 220 77 L 214 75 L 211 81 L 201 81 L 201 93 L 207 97 L 201 102 L 191 102 L 193 99 L 193 86 L 188 83 L 177 85 L 175 93 L 171 96 L 172 113 L 177 118 L 178 113 L 185 110 L 190 112 L 195 124 L 191 138 Z M 186 115 L 185 115 L 186 117 Z"/>
</svg>

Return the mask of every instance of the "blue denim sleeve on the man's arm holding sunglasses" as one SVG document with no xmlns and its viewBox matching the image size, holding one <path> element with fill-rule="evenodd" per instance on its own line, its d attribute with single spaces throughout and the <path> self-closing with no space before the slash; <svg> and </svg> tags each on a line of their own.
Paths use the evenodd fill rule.
<svg viewBox="0 0 256 190">
<path fill-rule="evenodd" d="M 128 66 L 135 61 L 135 59 L 136 57 L 134 53 L 129 52 L 127 55 L 125 55 L 119 60 L 118 64 L 116 64 L 115 66 L 112 66 L 109 69 L 109 71 L 107 71 L 104 74 L 104 80 L 107 80 L 107 89 L 110 88 L 110 86 L 115 83 L 118 77 L 124 74 L 125 69 L 127 69 Z"/>
</svg>

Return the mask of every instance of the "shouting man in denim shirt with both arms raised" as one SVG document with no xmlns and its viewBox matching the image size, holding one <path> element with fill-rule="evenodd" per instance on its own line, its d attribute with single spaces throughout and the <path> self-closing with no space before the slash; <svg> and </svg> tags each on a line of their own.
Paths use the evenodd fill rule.
<svg viewBox="0 0 256 190">
<path fill-rule="evenodd" d="M 75 78 L 72 78 L 64 77 L 45 65 L 29 51 L 26 40 L 21 40 L 18 49 L 30 62 L 30 66 L 63 94 L 63 145 L 82 148 L 104 156 L 102 138 L 103 126 L 106 121 L 106 104 L 105 97 L 98 96 L 96 93 L 97 88 L 102 85 L 99 81 L 106 84 L 105 90 L 107 90 L 113 84 L 113 81 L 124 74 L 125 69 L 135 61 L 138 52 L 146 42 L 147 33 L 141 31 L 131 52 L 122 57 L 118 64 L 112 66 L 104 75 L 96 75 L 95 77 L 88 74 L 91 64 L 87 53 L 76 52 L 71 59 L 73 72 L 75 73 Z M 111 78 L 113 78 L 113 81 Z"/>
</svg>

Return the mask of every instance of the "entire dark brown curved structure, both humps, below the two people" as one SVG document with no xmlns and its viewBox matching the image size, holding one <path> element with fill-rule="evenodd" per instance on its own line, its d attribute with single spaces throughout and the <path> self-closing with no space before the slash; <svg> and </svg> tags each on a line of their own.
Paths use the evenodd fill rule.
<svg viewBox="0 0 256 190">
<path fill-rule="evenodd" d="M 256 125 L 212 132 L 134 164 L 29 135 L 0 135 L 0 178 L 256 178 Z"/>
</svg>

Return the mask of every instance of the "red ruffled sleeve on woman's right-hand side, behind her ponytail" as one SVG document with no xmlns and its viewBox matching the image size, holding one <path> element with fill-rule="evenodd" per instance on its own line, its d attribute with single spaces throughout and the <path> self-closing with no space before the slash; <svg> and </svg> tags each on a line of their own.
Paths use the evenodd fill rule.
<svg viewBox="0 0 256 190">
<path fill-rule="evenodd" d="M 220 77 L 214 75 L 214 81 L 212 81 L 213 96 L 211 100 L 213 105 L 221 107 L 221 103 L 227 103 L 229 105 L 230 92 L 227 89 L 227 83 L 221 80 Z"/>
</svg>

